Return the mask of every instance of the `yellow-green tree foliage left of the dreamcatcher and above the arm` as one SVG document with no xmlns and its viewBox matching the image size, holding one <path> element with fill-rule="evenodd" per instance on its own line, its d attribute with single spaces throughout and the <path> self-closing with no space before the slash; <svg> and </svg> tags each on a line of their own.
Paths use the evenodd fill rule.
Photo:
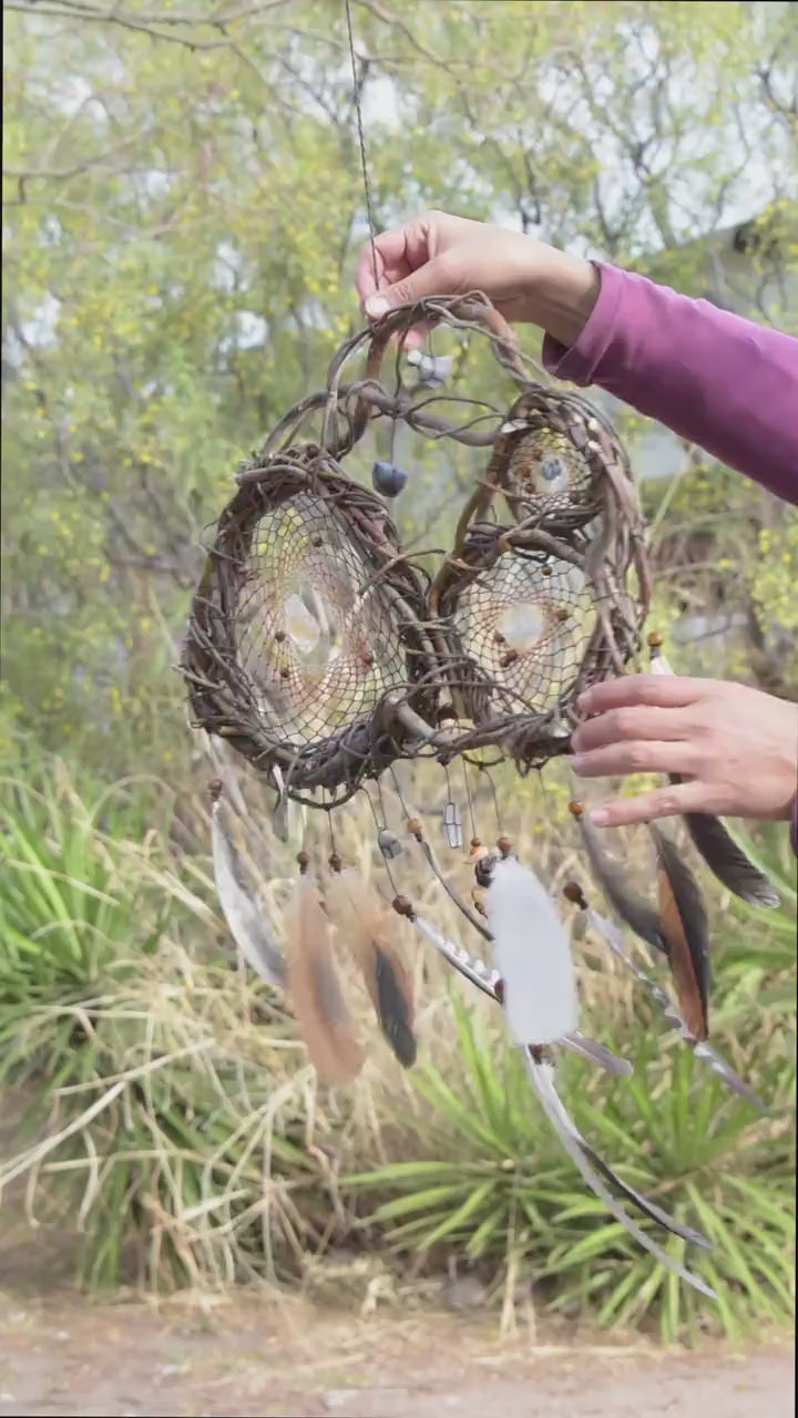
<svg viewBox="0 0 798 1418">
<path fill-rule="evenodd" d="M 6 716 L 168 763 L 203 526 L 358 323 L 344 4 L 4 14 Z M 697 238 L 761 213 L 789 230 L 794 6 L 354 0 L 354 18 L 379 225 L 498 216 L 689 291 Z M 420 535 L 471 465 L 408 457 Z"/>
</svg>

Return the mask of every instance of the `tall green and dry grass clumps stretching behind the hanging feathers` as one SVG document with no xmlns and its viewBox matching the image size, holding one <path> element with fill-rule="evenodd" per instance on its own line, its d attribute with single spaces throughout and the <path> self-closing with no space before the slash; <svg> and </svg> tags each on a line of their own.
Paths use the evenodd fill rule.
<svg viewBox="0 0 798 1418">
<path fill-rule="evenodd" d="M 714 1242 L 690 1258 L 718 1292 L 713 1309 L 585 1193 L 498 1011 L 409 933 L 423 1062 L 403 1075 L 372 1029 L 358 1082 L 319 1089 L 284 1001 L 230 951 L 200 797 L 148 780 L 89 797 L 57 763 L 0 791 L 0 1088 L 30 1099 L 0 1187 L 24 1188 L 30 1219 L 80 1231 L 81 1282 L 294 1282 L 346 1242 L 379 1249 L 399 1275 L 440 1275 L 457 1256 L 505 1314 L 521 1283 L 555 1312 L 656 1319 L 667 1340 L 707 1319 L 737 1334 L 789 1314 L 794 895 L 778 837 L 758 849 L 784 876 L 782 913 L 751 922 L 713 902 L 713 1039 L 772 1105 L 767 1116 L 699 1069 L 598 943 L 579 946 L 586 1028 L 635 1073 L 613 1082 L 568 1061 L 565 1096 L 629 1181 Z M 554 879 L 574 852 L 557 807 L 554 786 L 541 832 L 515 798 L 508 824 Z M 339 837 L 349 861 L 379 871 L 365 808 Z M 280 927 L 294 848 L 260 834 L 244 847 Z M 446 896 L 400 862 L 403 889 L 456 933 Z"/>
</svg>

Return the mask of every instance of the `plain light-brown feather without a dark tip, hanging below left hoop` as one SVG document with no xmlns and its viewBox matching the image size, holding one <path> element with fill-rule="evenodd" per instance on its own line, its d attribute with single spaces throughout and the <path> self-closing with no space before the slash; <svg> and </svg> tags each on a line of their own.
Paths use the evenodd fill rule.
<svg viewBox="0 0 798 1418">
<path fill-rule="evenodd" d="M 364 1051 L 335 976 L 329 923 L 307 878 L 288 913 L 287 947 L 288 995 L 311 1064 L 322 1083 L 348 1083 L 361 1071 Z"/>
</svg>

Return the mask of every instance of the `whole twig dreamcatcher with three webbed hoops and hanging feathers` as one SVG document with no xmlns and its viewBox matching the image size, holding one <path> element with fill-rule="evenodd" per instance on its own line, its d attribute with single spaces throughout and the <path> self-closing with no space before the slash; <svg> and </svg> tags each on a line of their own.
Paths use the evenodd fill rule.
<svg viewBox="0 0 798 1418">
<path fill-rule="evenodd" d="M 511 407 L 446 393 L 461 373 L 452 357 L 402 353 L 403 336 L 417 325 L 449 328 L 461 349 L 486 340 L 517 387 Z M 373 491 L 342 467 L 369 427 L 389 435 L 388 457 L 373 465 Z M 452 549 L 432 571 L 429 557 L 403 549 L 389 510 L 406 482 L 395 457 L 399 427 L 484 450 L 484 472 Z M 212 784 L 219 898 L 244 959 L 287 991 L 319 1078 L 341 1085 L 358 1073 L 364 1048 L 341 988 L 337 947 L 361 971 L 399 1062 L 415 1062 L 415 1001 L 398 917 L 409 922 L 503 1007 L 550 1123 L 608 1210 L 663 1266 L 711 1296 L 623 1202 L 672 1235 L 709 1242 L 618 1177 L 557 1093 L 564 1049 L 615 1075 L 628 1075 L 630 1065 L 581 1032 L 569 939 L 557 906 L 510 838 L 480 831 L 471 791 L 474 778 L 490 781 L 500 763 L 525 774 L 567 754 L 581 691 L 639 658 L 649 605 L 645 527 L 612 427 L 584 398 L 534 377 L 484 296 L 429 299 L 393 309 L 346 340 L 325 387 L 285 414 L 237 484 L 190 611 L 183 674 L 192 718 L 270 784 L 278 834 L 290 803 L 302 805 L 308 824 L 283 951 L 236 848 L 236 781 Z M 669 672 L 659 638 L 649 642 L 653 668 Z M 425 814 L 406 804 L 399 771 L 420 759 L 446 774 L 443 839 L 454 861 L 466 854 L 473 869 L 469 898 L 439 864 Z M 463 803 L 452 791 L 452 766 L 461 774 Z M 337 847 L 337 811 L 359 793 L 372 808 L 388 893 Z M 603 847 L 582 804 L 574 801 L 571 810 L 613 915 L 666 959 L 676 1003 L 628 956 L 616 925 L 589 906 L 578 882 L 568 882 L 567 899 L 696 1058 L 763 1106 L 707 1042 L 707 916 L 673 839 L 649 828 L 657 879 L 657 902 L 649 905 L 629 889 L 623 864 Z M 717 820 L 692 815 L 687 827 L 730 891 L 775 903 L 770 883 Z M 481 954 L 449 940 L 400 891 L 409 845 L 456 902 Z"/>
</svg>

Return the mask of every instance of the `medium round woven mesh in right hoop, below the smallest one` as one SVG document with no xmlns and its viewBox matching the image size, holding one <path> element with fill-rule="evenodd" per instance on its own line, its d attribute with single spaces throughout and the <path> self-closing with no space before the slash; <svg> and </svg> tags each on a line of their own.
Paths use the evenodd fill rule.
<svg viewBox="0 0 798 1418">
<path fill-rule="evenodd" d="M 576 566 L 507 552 L 460 594 L 454 624 L 466 654 L 496 685 L 494 709 L 541 713 L 574 683 L 596 611 Z"/>
</svg>

